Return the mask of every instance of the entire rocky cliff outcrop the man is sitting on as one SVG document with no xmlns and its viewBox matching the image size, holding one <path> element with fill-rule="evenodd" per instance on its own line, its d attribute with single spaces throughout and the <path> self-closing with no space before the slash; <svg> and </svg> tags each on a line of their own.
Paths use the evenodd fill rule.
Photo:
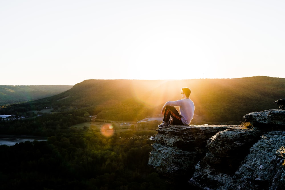
<svg viewBox="0 0 285 190">
<path fill-rule="evenodd" d="M 284 116 L 285 110 L 249 113 L 244 117 L 251 128 L 237 125 L 160 128 L 148 165 L 170 183 L 187 188 L 284 189 Z"/>
</svg>

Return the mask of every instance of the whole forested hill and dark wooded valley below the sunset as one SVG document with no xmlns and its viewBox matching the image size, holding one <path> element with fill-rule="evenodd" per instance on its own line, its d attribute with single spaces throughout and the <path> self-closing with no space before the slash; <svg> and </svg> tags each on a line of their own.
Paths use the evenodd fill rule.
<svg viewBox="0 0 285 190">
<path fill-rule="evenodd" d="M 3 106 L 1 115 L 18 119 L 0 118 L 1 135 L 47 141 L 0 146 L 0 189 L 193 189 L 189 183 L 168 184 L 147 166 L 149 137 L 157 133 L 158 121 L 129 127 L 108 121 L 161 115 L 166 101 L 181 99 L 182 87 L 192 90 L 191 124 L 239 123 L 249 112 L 278 109 L 273 102 L 285 98 L 285 79 L 272 77 L 86 80 L 51 97 Z M 104 124 L 85 126 L 89 114 Z M 106 126 L 112 135 L 106 135 Z"/>
</svg>

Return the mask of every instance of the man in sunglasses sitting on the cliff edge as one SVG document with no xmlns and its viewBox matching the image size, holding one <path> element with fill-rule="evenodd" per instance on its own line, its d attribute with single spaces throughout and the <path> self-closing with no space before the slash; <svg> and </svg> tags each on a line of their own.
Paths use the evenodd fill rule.
<svg viewBox="0 0 285 190">
<path fill-rule="evenodd" d="M 194 116 L 195 106 L 189 96 L 191 90 L 189 88 L 181 89 L 182 99 L 177 101 L 168 101 L 164 104 L 161 114 L 164 115 L 163 121 L 159 128 L 172 125 L 189 125 Z M 179 106 L 180 114 L 174 106 Z M 170 121 L 170 116 L 172 120 Z"/>
</svg>

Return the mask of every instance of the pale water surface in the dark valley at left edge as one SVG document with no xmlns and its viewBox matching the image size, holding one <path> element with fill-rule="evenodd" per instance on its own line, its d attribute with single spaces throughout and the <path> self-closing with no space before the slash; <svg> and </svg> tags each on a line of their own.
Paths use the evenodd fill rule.
<svg viewBox="0 0 285 190">
<path fill-rule="evenodd" d="M 0 135 L 0 145 L 14 146 L 16 143 L 25 141 L 33 142 L 34 140 L 47 140 L 47 137 Z"/>
</svg>

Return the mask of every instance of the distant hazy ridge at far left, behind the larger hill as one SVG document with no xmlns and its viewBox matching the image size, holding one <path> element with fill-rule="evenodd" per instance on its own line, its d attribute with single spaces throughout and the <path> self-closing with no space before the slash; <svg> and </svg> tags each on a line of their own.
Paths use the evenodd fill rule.
<svg viewBox="0 0 285 190">
<path fill-rule="evenodd" d="M 0 85 L 0 106 L 50 97 L 71 88 L 70 85 Z"/>
</svg>

